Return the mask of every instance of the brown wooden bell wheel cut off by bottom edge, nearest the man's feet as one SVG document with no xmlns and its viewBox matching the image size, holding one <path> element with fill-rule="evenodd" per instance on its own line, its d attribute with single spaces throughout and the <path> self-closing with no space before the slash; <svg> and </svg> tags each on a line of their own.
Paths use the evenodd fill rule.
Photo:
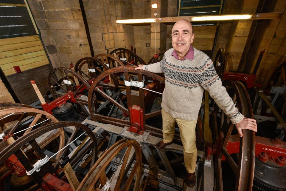
<svg viewBox="0 0 286 191">
<path fill-rule="evenodd" d="M 113 160 L 116 155 L 119 153 L 124 153 L 121 157 L 121 162 L 118 164 L 118 167 L 114 174 L 110 177 L 105 174 L 105 169 L 110 165 L 110 162 Z M 133 155 L 135 154 L 136 162 L 132 167 L 132 170 L 128 176 L 127 172 L 129 170 L 130 165 L 133 163 Z M 129 159 L 129 160 L 128 160 Z M 91 170 L 87 173 L 87 175 L 83 178 L 83 181 L 77 187 L 77 191 L 89 191 L 99 189 L 99 183 L 108 187 L 107 190 L 131 190 L 131 184 L 133 183 L 132 190 L 140 189 L 140 180 L 142 174 L 142 152 L 139 143 L 135 140 L 127 140 L 122 139 L 112 145 L 108 150 L 106 150 L 102 156 L 97 160 Z M 114 178 L 116 177 L 116 178 Z M 118 178 L 117 178 L 118 177 Z M 135 177 L 135 180 L 133 181 Z"/>
</svg>

